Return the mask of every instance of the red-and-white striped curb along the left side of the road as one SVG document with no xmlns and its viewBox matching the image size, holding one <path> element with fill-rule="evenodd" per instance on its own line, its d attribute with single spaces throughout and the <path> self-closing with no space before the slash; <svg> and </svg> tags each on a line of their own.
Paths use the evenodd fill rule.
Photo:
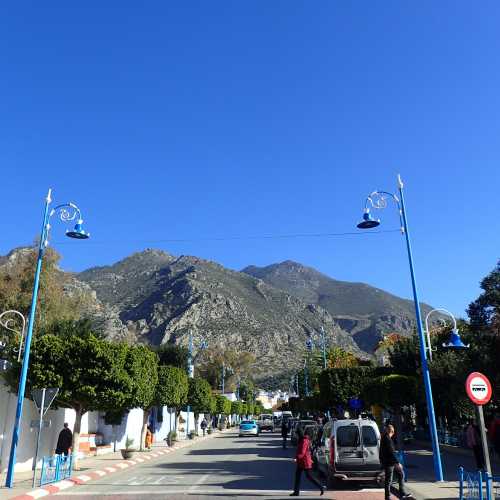
<svg viewBox="0 0 500 500">
<path fill-rule="evenodd" d="M 223 432 L 223 431 L 222 431 Z M 216 433 L 214 436 L 215 437 L 220 433 Z M 15 497 L 12 497 L 11 500 L 34 500 L 36 498 L 42 498 L 46 497 L 48 495 L 54 495 L 55 493 L 59 493 L 60 491 L 67 490 L 68 488 L 72 488 L 73 486 L 77 486 L 79 484 L 85 484 L 90 481 L 93 481 L 95 479 L 100 479 L 103 476 L 107 476 L 109 474 L 113 474 L 114 472 L 119 472 L 124 469 L 128 469 L 129 467 L 133 467 L 134 465 L 139 465 L 144 462 L 149 462 L 150 460 L 153 460 L 154 458 L 158 458 L 162 455 L 168 455 L 169 453 L 172 453 L 176 450 L 180 450 L 181 448 L 186 448 L 188 446 L 192 446 L 192 444 L 199 442 L 199 441 L 204 441 L 206 439 L 210 439 L 208 436 L 193 440 L 191 441 L 186 441 L 182 442 L 182 444 L 176 444 L 172 446 L 171 448 L 166 448 L 165 450 L 158 450 L 158 451 L 153 451 L 147 454 L 144 454 L 142 457 L 137 457 L 134 460 L 123 460 L 121 462 L 116 462 L 115 464 L 104 467 L 103 469 L 99 470 L 92 470 L 87 472 L 86 474 L 81 474 L 76 477 L 72 477 L 70 479 L 63 479 L 62 481 L 58 481 L 57 483 L 53 484 L 48 484 L 46 486 L 42 486 L 40 488 L 37 488 L 35 490 L 31 490 L 28 493 L 23 493 L 22 495 L 17 495 Z"/>
</svg>

